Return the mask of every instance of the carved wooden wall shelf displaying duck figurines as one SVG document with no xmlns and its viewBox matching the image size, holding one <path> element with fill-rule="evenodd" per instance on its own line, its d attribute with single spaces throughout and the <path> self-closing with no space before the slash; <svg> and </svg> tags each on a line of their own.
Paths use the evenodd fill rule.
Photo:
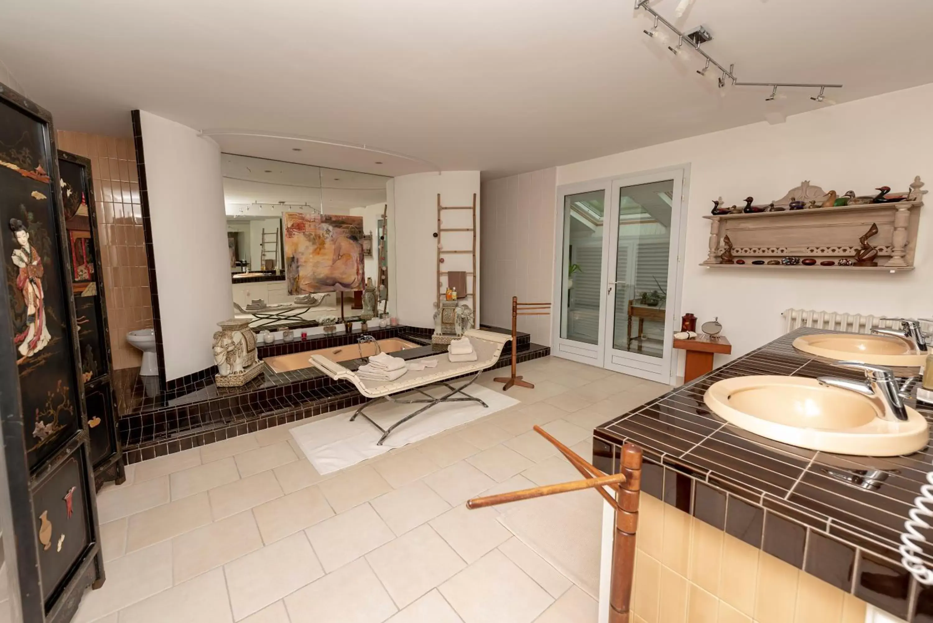
<svg viewBox="0 0 933 623">
<path fill-rule="evenodd" d="M 804 185 L 808 185 L 804 182 Z M 908 201 L 893 204 L 844 205 L 819 207 L 782 212 L 760 212 L 757 214 L 707 215 L 710 220 L 709 249 L 703 266 L 730 267 L 735 269 L 796 269 L 837 270 L 895 273 L 912 270 L 916 251 L 920 208 L 924 205 L 920 190 L 923 182 L 914 178 Z M 822 195 L 819 187 L 807 186 L 809 191 Z M 796 190 L 796 189 L 795 189 Z M 790 191 L 792 194 L 794 190 Z M 814 195 L 817 204 L 822 197 Z M 854 258 L 860 248 L 859 237 L 866 234 L 872 224 L 878 234 L 869 239 L 869 244 L 878 249 L 877 266 L 820 266 L 819 262 L 843 258 Z M 729 236 L 731 252 L 735 259 L 745 264 L 723 264 L 721 255 L 725 250 L 724 240 Z M 813 258 L 815 266 L 802 264 L 756 265 L 755 260 L 773 260 L 787 256 L 802 259 Z"/>
</svg>

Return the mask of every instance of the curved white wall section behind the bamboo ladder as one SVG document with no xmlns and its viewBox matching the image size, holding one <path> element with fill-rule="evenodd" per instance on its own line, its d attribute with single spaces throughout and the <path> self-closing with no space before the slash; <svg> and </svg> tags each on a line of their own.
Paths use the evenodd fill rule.
<svg viewBox="0 0 933 623">
<path fill-rule="evenodd" d="M 437 284 L 438 193 L 442 205 L 471 205 L 477 195 L 477 251 L 480 253 L 480 172 L 444 171 L 396 177 L 387 184 L 390 223 L 390 302 L 395 301 L 399 322 L 416 327 L 433 327 Z M 444 227 L 471 227 L 469 210 L 443 213 Z M 447 248 L 470 248 L 468 232 L 444 234 Z M 472 271 L 470 256 L 448 255 L 444 270 Z M 477 258 L 477 273 L 480 262 Z M 393 265 L 394 264 L 394 265 Z M 479 289 L 479 276 L 477 288 Z M 395 283 L 395 288 L 391 283 Z M 394 292 L 391 290 L 395 290 Z M 480 306 L 482 292 L 478 292 Z M 472 298 L 472 297 L 471 297 Z M 472 300 L 466 304 L 475 307 Z M 477 311 L 479 314 L 479 310 Z"/>
</svg>

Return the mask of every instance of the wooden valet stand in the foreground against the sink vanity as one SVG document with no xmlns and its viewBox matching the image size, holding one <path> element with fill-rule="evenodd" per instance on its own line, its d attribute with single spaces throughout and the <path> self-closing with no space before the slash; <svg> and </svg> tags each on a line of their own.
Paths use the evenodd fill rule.
<svg viewBox="0 0 933 623">
<path fill-rule="evenodd" d="M 474 498 L 466 502 L 466 508 L 483 508 L 555 493 L 595 488 L 616 513 L 612 540 L 612 573 L 609 582 L 609 623 L 629 623 L 635 564 L 635 531 L 638 528 L 638 502 L 641 493 L 641 448 L 634 444 L 622 446 L 620 473 L 606 475 L 540 427 L 536 426 L 535 431 L 560 450 L 585 479 Z M 615 497 L 608 493 L 606 488 L 612 490 Z"/>
</svg>

